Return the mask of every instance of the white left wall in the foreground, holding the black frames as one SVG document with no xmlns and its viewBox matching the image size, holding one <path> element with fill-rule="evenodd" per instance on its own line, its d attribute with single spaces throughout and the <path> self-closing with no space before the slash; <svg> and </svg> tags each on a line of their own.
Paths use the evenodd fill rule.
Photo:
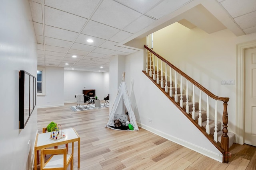
<svg viewBox="0 0 256 170">
<path fill-rule="evenodd" d="M 0 169 L 27 170 L 33 163 L 37 131 L 37 105 L 25 128 L 19 129 L 18 72 L 37 74 L 36 39 L 28 0 L 1 1 L 0 21 Z"/>
</svg>

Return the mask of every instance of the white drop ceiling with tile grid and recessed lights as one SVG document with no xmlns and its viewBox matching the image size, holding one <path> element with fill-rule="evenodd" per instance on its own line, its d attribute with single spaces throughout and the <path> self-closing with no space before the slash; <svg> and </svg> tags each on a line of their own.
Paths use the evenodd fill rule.
<svg viewBox="0 0 256 170">
<path fill-rule="evenodd" d="M 140 50 L 125 45 L 129 41 L 174 22 L 190 29 L 199 27 L 207 33 L 222 29 L 230 29 L 236 36 L 256 32 L 256 0 L 29 2 L 38 43 L 38 66 L 65 70 L 106 72 L 112 56 Z"/>
</svg>

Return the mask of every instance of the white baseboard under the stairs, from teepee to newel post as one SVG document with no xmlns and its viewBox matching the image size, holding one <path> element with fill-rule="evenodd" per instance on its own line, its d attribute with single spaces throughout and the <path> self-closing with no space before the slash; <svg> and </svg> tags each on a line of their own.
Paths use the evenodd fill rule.
<svg viewBox="0 0 256 170">
<path fill-rule="evenodd" d="M 199 147 L 197 145 L 194 145 L 192 143 L 188 143 L 187 141 L 184 141 L 182 139 L 178 139 L 178 138 L 176 138 L 174 136 L 171 136 L 171 135 L 168 135 L 168 134 L 163 133 L 161 131 L 158 131 L 158 130 L 156 130 L 156 129 L 152 128 L 152 127 L 149 127 L 147 125 L 144 125 L 144 124 L 141 124 L 141 123 L 138 123 L 138 122 L 137 122 L 137 124 L 138 124 L 139 127 L 143 128 L 143 129 L 146 129 L 147 131 L 150 131 L 150 132 L 152 132 L 152 133 L 154 133 L 154 134 L 156 134 L 156 135 L 158 135 L 160 137 L 163 137 L 165 139 L 168 139 L 169 141 L 172 141 L 174 143 L 182 145 L 183 147 L 186 147 L 186 148 L 194 150 L 194 151 L 196 151 L 196 152 L 198 152 L 200 154 L 208 156 L 209 158 L 217 160 L 218 162 L 222 162 L 222 154 L 221 154 L 221 152 L 219 154 L 217 154 L 217 153 L 214 153 L 214 152 L 212 152 L 210 150 L 207 150 L 205 148 L 202 148 L 202 147 Z"/>
</svg>

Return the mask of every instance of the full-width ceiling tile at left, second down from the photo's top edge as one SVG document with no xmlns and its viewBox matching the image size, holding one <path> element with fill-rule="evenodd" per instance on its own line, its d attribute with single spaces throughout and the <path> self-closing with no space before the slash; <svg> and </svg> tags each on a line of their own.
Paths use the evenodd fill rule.
<svg viewBox="0 0 256 170">
<path fill-rule="evenodd" d="M 50 25 L 70 31 L 80 32 L 86 18 L 76 16 L 67 12 L 56 10 L 54 8 L 44 7 L 44 22 L 45 25 Z"/>
</svg>

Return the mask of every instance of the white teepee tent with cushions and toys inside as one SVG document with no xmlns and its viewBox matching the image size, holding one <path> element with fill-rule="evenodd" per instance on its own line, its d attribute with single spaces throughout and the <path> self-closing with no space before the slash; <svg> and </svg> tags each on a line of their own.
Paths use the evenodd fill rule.
<svg viewBox="0 0 256 170">
<path fill-rule="evenodd" d="M 127 112 L 128 112 L 128 115 L 126 114 Z M 120 127 L 124 127 L 124 128 L 115 126 L 114 120 L 116 120 L 116 119 L 119 119 L 120 122 L 123 123 L 123 125 L 121 125 Z M 115 99 L 114 105 L 112 107 L 112 110 L 109 113 L 108 123 L 106 124 L 105 127 L 115 129 L 115 130 L 129 131 L 130 129 L 128 127 L 125 128 L 125 126 L 128 125 L 127 121 L 130 122 L 134 131 L 139 130 L 134 112 L 132 110 L 132 106 L 131 106 L 130 98 L 129 98 L 129 95 L 127 92 L 126 84 L 124 82 L 124 73 L 123 73 L 123 79 L 119 86 L 118 93 L 116 95 L 116 99 Z M 124 125 L 124 123 L 126 123 L 126 125 Z"/>
</svg>

